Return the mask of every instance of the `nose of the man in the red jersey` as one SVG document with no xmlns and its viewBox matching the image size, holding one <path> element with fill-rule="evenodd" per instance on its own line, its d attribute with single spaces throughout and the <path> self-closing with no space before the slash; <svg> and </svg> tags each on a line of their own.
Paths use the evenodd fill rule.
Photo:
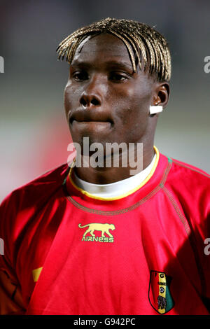
<svg viewBox="0 0 210 329">
<path fill-rule="evenodd" d="M 102 94 L 100 90 L 99 80 L 93 78 L 90 83 L 86 86 L 85 90 L 80 97 L 80 104 L 84 107 L 101 106 L 102 105 Z"/>
</svg>

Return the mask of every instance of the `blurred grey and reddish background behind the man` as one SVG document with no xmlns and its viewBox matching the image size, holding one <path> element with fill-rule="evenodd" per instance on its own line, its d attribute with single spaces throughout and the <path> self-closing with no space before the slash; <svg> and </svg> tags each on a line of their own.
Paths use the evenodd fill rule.
<svg viewBox="0 0 210 329">
<path fill-rule="evenodd" d="M 169 105 L 155 146 L 210 173 L 210 1 L 0 0 L 0 201 L 11 190 L 66 162 L 71 141 L 63 106 L 68 64 L 55 49 L 74 30 L 102 18 L 145 22 L 172 53 Z"/>
</svg>

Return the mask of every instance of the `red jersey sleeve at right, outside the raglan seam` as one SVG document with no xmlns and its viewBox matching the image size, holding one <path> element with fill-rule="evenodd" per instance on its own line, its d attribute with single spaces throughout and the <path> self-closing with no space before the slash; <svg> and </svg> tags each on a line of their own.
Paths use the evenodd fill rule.
<svg viewBox="0 0 210 329">
<path fill-rule="evenodd" d="M 210 312 L 210 176 L 191 165 L 173 162 L 172 193 L 190 225 L 189 239 L 200 274 L 202 299 Z"/>
</svg>

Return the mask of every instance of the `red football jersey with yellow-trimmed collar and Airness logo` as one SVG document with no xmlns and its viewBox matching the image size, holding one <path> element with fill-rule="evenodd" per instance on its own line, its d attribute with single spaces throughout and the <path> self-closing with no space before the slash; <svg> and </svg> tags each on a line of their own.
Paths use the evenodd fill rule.
<svg viewBox="0 0 210 329">
<path fill-rule="evenodd" d="M 209 175 L 157 153 L 137 190 L 103 200 L 67 164 L 1 204 L 1 314 L 209 314 Z"/>
</svg>

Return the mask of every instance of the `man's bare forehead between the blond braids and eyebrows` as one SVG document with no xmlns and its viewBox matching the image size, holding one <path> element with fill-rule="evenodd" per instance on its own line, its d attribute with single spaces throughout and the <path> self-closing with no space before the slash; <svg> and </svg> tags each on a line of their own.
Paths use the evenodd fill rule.
<svg viewBox="0 0 210 329">
<path fill-rule="evenodd" d="M 99 34 L 97 36 L 87 36 L 76 49 L 73 61 L 75 62 L 95 62 L 95 61 L 115 61 L 127 62 L 132 66 L 129 52 L 120 38 L 112 34 Z"/>
</svg>

